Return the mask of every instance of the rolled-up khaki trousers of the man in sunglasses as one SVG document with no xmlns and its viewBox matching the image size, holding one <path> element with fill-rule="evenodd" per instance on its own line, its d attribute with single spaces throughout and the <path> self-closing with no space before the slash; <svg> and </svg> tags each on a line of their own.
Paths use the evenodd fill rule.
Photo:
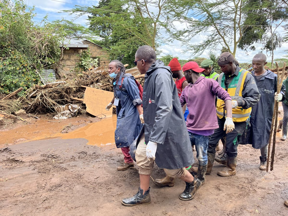
<svg viewBox="0 0 288 216">
<path fill-rule="evenodd" d="M 141 175 L 151 175 L 153 171 L 154 160 L 150 158 L 148 160 L 146 156 L 146 144 L 144 143 L 144 134 L 140 138 L 139 144 L 136 149 L 135 159 L 139 166 L 139 174 Z M 158 144 L 161 145 L 161 144 Z M 185 168 L 179 169 L 165 169 L 164 172 L 171 178 L 180 178 L 187 175 L 188 171 Z"/>
</svg>

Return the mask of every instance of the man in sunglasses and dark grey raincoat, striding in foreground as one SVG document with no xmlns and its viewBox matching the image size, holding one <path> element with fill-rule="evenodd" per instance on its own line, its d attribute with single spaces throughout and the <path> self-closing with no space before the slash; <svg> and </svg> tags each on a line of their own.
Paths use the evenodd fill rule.
<svg viewBox="0 0 288 216">
<path fill-rule="evenodd" d="M 156 60 L 155 51 L 147 45 L 137 50 L 135 64 L 141 74 L 146 73 L 142 98 L 145 133 L 139 135 L 135 154 L 140 187 L 137 194 L 121 202 L 126 206 L 150 203 L 149 180 L 154 161 L 168 176 L 185 181 L 179 198 L 191 200 L 201 181 L 185 169 L 194 163 L 194 157 L 170 67 Z"/>
</svg>

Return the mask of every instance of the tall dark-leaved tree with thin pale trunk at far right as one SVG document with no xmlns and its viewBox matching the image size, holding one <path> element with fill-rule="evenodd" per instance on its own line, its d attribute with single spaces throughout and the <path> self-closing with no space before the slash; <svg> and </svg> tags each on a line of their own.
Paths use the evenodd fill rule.
<svg viewBox="0 0 288 216">
<path fill-rule="evenodd" d="M 283 40 L 277 28 L 288 18 L 287 4 L 278 0 L 247 0 L 243 9 L 246 13 L 243 25 L 247 27 L 238 48 L 248 51 L 262 45 L 261 50 L 270 52 L 273 67 L 274 50 L 281 47 Z"/>
</svg>

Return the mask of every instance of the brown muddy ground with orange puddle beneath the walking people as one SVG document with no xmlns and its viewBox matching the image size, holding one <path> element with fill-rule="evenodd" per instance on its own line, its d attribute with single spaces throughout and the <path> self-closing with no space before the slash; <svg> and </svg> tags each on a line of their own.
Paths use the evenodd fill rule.
<svg viewBox="0 0 288 216">
<path fill-rule="evenodd" d="M 185 188 L 181 180 L 174 187 L 150 181 L 151 204 L 127 207 L 120 200 L 137 192 L 137 166 L 116 170 L 123 157 L 120 149 L 109 145 L 115 121 L 109 130 L 95 132 L 106 137 L 108 145 L 87 145 L 97 144 L 91 131 L 99 119 L 90 118 L 37 120 L 0 131 L 0 215 L 288 215 L 283 205 L 288 199 L 288 142 L 279 140 L 281 133 L 273 171 L 259 170 L 259 150 L 240 145 L 236 175 L 217 176 L 224 166 L 215 162 L 193 200 L 178 198 Z M 65 134 L 74 139 L 55 138 L 67 125 L 87 126 L 84 132 L 78 128 Z M 54 138 L 43 139 L 48 137 Z M 165 174 L 155 166 L 152 176 Z"/>
</svg>

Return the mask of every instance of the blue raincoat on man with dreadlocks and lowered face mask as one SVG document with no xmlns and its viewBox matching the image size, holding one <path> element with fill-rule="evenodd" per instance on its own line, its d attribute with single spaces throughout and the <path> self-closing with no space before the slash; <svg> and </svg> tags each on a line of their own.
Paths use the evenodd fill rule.
<svg viewBox="0 0 288 216">
<path fill-rule="evenodd" d="M 115 130 L 115 144 L 117 148 L 129 147 L 141 131 L 142 124 L 136 105 L 141 105 L 139 89 L 135 78 L 126 73 L 120 75 L 117 83 L 113 85 L 115 98 L 119 98 L 119 105 L 116 107 L 117 124 Z M 113 83 L 115 80 L 113 80 Z M 120 89 L 122 82 L 122 88 Z"/>
</svg>

